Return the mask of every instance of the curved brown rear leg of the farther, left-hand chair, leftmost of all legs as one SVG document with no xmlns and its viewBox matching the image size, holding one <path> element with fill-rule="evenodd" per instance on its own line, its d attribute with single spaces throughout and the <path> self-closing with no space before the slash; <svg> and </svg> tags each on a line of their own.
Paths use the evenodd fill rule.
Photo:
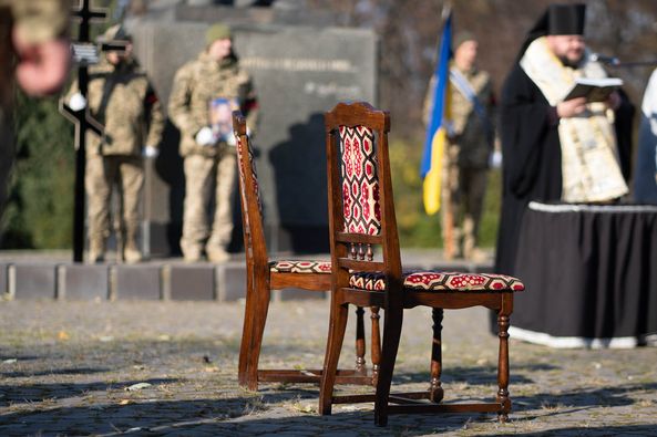
<svg viewBox="0 0 657 437">
<path fill-rule="evenodd" d="M 265 284 L 256 283 L 251 308 L 251 330 L 249 335 L 249 351 L 247 352 L 246 386 L 248 389 L 258 389 L 258 363 L 260 361 L 260 348 L 265 334 L 265 323 L 269 311 L 270 290 Z"/>
</svg>

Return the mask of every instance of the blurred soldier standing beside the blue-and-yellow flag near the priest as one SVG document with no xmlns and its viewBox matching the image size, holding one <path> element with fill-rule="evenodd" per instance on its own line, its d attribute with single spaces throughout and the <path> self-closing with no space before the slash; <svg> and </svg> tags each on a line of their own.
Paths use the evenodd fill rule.
<svg viewBox="0 0 657 437">
<path fill-rule="evenodd" d="M 491 79 L 476 69 L 478 43 L 468 32 L 454 38 L 450 66 L 449 143 L 443 163 L 442 231 L 445 259 L 463 257 L 481 261 L 478 233 L 483 211 L 489 159 L 493 152 L 494 105 Z M 425 102 L 431 113 L 432 83 Z M 450 223 L 453 228 L 450 229 Z"/>
</svg>

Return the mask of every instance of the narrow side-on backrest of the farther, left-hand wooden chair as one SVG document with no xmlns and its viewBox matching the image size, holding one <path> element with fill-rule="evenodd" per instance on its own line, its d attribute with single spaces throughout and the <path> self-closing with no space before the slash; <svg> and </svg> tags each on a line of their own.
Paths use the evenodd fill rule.
<svg viewBox="0 0 657 437">
<path fill-rule="evenodd" d="M 233 112 L 233 132 L 237 148 L 244 251 L 250 277 L 254 266 L 256 269 L 268 269 L 268 258 L 256 162 L 246 133 L 246 118 L 239 111 Z"/>
</svg>

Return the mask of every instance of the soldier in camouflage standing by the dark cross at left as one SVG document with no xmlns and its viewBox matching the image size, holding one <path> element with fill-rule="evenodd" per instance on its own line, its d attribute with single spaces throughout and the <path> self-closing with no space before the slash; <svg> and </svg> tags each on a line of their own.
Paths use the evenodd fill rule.
<svg viewBox="0 0 657 437">
<path fill-rule="evenodd" d="M 107 52 L 89 69 L 89 106 L 105 126 L 102 137 L 86 133 L 85 188 L 89 199 L 89 261 L 102 262 L 110 236 L 110 208 L 113 186 L 120 198 L 120 240 L 123 260 L 142 260 L 137 246 L 140 201 L 144 185 L 144 157 L 157 155 L 164 129 L 164 114 L 145 72 L 132 58 L 131 38 L 123 27 L 114 25 L 102 37 L 106 42 L 123 42 L 125 52 Z M 69 105 L 86 105 L 76 83 L 68 94 Z"/>
</svg>

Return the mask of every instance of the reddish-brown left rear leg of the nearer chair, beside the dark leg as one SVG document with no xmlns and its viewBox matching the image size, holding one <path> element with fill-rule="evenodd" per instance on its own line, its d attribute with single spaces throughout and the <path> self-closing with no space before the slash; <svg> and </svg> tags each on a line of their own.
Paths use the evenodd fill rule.
<svg viewBox="0 0 657 437">
<path fill-rule="evenodd" d="M 338 361 L 340 360 L 348 316 L 349 305 L 347 303 L 331 305 L 329 334 L 326 343 L 321 383 L 319 385 L 319 414 L 322 416 L 331 414 L 336 373 L 338 371 Z"/>
</svg>

